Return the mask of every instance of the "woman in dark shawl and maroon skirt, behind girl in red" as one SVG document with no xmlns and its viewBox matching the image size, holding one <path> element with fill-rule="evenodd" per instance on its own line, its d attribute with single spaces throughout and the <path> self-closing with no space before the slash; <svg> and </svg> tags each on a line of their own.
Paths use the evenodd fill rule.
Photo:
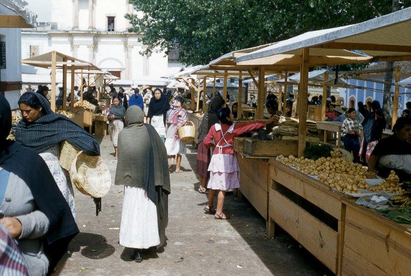
<svg viewBox="0 0 411 276">
<path fill-rule="evenodd" d="M 207 192 L 206 185 L 207 180 L 210 177 L 208 168 L 211 160 L 211 152 L 209 149 L 206 149 L 203 140 L 209 133 L 211 126 L 219 122 L 217 112 L 223 104 L 225 104 L 225 100 L 223 98 L 214 97 L 209 104 L 208 111 L 202 117 L 201 124 L 198 127 L 196 174 L 200 177 L 200 187 L 198 188 L 198 192 L 200 194 L 205 194 Z"/>
</svg>

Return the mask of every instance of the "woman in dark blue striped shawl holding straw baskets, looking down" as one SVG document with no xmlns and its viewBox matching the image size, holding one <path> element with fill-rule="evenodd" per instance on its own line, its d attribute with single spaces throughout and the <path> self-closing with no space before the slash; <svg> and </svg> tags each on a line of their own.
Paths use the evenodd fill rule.
<svg viewBox="0 0 411 276">
<path fill-rule="evenodd" d="M 59 162 L 60 143 L 67 140 L 91 156 L 100 155 L 99 143 L 66 116 L 52 112 L 50 103 L 38 93 L 24 93 L 18 105 L 23 119 L 16 126 L 16 141 L 40 154 L 76 218 L 70 176 Z"/>
</svg>

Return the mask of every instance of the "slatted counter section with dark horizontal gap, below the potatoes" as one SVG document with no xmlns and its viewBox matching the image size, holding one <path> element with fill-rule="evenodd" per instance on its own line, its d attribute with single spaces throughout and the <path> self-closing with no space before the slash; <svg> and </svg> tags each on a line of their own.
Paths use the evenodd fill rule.
<svg viewBox="0 0 411 276">
<path fill-rule="evenodd" d="M 341 273 L 345 205 L 328 185 L 270 159 L 269 235 L 288 232 L 337 275 Z"/>
</svg>

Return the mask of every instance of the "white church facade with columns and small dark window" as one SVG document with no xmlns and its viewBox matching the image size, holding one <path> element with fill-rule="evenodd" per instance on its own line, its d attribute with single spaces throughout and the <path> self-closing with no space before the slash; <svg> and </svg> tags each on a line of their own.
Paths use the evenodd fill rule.
<svg viewBox="0 0 411 276">
<path fill-rule="evenodd" d="M 138 41 L 141 34 L 127 32 L 130 25 L 124 15 L 135 13 L 128 0 L 50 2 L 51 22 L 38 18 L 38 28 L 22 30 L 22 59 L 55 50 L 141 84 L 158 81 L 183 66 L 169 61 L 163 52 L 150 57 L 140 54 L 145 47 Z M 24 65 L 23 73 L 48 71 Z"/>
</svg>

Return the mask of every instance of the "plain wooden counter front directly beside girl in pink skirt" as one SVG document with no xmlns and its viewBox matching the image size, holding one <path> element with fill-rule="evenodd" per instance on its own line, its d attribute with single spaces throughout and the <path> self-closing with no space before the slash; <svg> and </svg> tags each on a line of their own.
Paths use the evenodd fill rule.
<svg viewBox="0 0 411 276">
<path fill-rule="evenodd" d="M 238 166 L 240 168 L 239 191 L 257 210 L 268 219 L 268 185 L 269 164 L 267 161 L 244 158 L 237 153 Z"/>
</svg>

